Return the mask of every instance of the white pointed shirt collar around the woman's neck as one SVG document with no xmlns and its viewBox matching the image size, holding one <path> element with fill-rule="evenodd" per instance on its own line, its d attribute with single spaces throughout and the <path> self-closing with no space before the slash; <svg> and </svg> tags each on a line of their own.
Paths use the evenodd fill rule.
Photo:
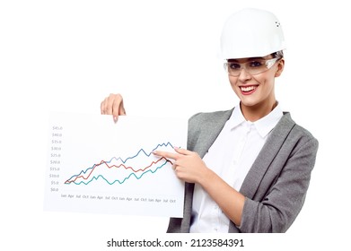
<svg viewBox="0 0 351 251">
<path fill-rule="evenodd" d="M 283 110 L 281 109 L 279 103 L 276 108 L 274 108 L 267 116 L 260 118 L 255 122 L 246 121 L 245 117 L 241 113 L 240 104 L 238 104 L 234 109 L 232 116 L 230 117 L 230 128 L 234 128 L 241 123 L 250 123 L 256 127 L 261 137 L 266 137 L 270 131 L 276 126 L 280 118 L 283 117 Z"/>
</svg>

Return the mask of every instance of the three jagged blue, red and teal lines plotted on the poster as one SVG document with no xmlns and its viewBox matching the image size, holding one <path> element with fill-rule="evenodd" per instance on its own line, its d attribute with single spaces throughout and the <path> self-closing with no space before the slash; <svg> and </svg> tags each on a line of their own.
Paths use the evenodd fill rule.
<svg viewBox="0 0 351 251">
<path fill-rule="evenodd" d="M 115 183 L 118 183 L 120 185 L 122 185 L 123 183 L 125 183 L 127 181 L 127 179 L 129 179 L 130 177 L 136 177 L 136 179 L 140 179 L 141 177 L 143 177 L 146 173 L 155 173 L 158 169 L 161 169 L 163 166 L 169 164 L 172 165 L 173 163 L 171 162 L 171 160 L 165 159 L 165 158 L 159 158 L 158 160 L 153 160 L 151 162 L 151 164 L 147 165 L 145 168 L 140 168 L 140 169 L 134 169 L 133 167 L 129 167 L 127 166 L 127 161 L 128 160 L 133 160 L 135 158 L 137 158 L 139 155 L 145 155 L 145 157 L 152 157 L 153 151 L 157 150 L 159 147 L 161 146 L 165 146 L 168 147 L 170 146 L 171 149 L 173 149 L 173 146 L 171 145 L 171 143 L 162 143 L 162 144 L 157 144 L 157 146 L 149 153 L 146 153 L 145 150 L 142 148 L 139 151 L 137 151 L 136 155 L 132 156 L 132 157 L 128 157 L 127 159 L 123 160 L 121 157 L 113 157 L 112 159 L 105 161 L 105 160 L 101 160 L 100 163 L 98 164 L 94 164 L 91 168 L 89 169 L 85 169 L 82 170 L 78 175 L 74 175 L 70 178 L 68 178 L 65 181 L 66 185 L 69 184 L 75 184 L 75 185 L 88 185 L 90 184 L 93 180 L 97 180 L 99 178 L 102 178 L 103 180 L 106 181 L 106 183 L 108 183 L 109 185 L 113 185 Z M 113 160 L 115 162 L 122 162 L 120 164 L 112 164 Z M 163 160 L 163 161 L 162 161 Z M 159 163 L 161 162 L 161 163 Z M 109 165 L 110 164 L 110 165 Z M 153 166 L 156 166 L 154 169 Z M 92 173 L 94 171 L 96 171 L 99 167 L 106 167 L 107 169 L 124 169 L 124 170 L 130 170 L 130 173 L 127 175 L 127 177 L 122 177 L 121 179 L 114 179 L 112 181 L 109 181 L 109 179 L 107 177 L 104 177 L 101 174 L 98 175 L 93 175 Z M 136 173 L 140 173 L 140 174 L 136 174 Z M 86 176 L 85 176 L 86 175 Z"/>
</svg>

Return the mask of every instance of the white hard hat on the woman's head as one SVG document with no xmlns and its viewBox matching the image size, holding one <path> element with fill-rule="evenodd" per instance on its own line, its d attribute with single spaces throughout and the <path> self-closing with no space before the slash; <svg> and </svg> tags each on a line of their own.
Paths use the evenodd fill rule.
<svg viewBox="0 0 351 251">
<path fill-rule="evenodd" d="M 223 59 L 267 56 L 283 49 L 283 30 L 273 13 L 247 8 L 233 13 L 224 24 Z"/>
</svg>

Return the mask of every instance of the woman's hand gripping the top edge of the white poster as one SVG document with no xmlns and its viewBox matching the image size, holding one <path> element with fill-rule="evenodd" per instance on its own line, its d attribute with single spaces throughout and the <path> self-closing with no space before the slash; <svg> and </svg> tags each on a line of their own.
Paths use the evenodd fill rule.
<svg viewBox="0 0 351 251">
<path fill-rule="evenodd" d="M 112 115 L 115 122 L 117 122 L 119 115 L 126 115 L 122 96 L 111 93 L 101 102 L 101 114 Z"/>
</svg>

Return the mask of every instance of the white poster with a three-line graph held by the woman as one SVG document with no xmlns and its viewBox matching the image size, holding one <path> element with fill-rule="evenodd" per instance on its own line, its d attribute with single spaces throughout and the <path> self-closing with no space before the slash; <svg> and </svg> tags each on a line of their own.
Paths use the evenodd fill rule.
<svg viewBox="0 0 351 251">
<path fill-rule="evenodd" d="M 154 150 L 186 148 L 187 119 L 53 113 L 44 210 L 182 217 L 184 183 Z"/>
</svg>

